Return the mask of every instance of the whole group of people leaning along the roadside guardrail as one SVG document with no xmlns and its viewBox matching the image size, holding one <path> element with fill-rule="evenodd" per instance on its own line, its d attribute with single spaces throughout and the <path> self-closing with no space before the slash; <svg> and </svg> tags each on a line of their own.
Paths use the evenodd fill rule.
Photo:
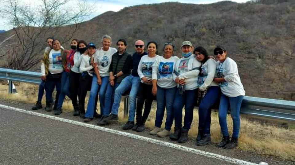
<svg viewBox="0 0 295 165">
<path fill-rule="evenodd" d="M 169 136 L 171 140 L 185 143 L 193 120 L 195 97 L 201 93 L 197 145 L 211 142 L 211 107 L 219 100 L 218 117 L 223 137 L 218 147 L 231 149 L 238 145 L 239 112 L 245 90 L 237 64 L 227 57 L 225 47 L 215 47 L 216 62 L 205 48 L 197 46 L 194 49 L 190 41 L 182 43 L 181 58 L 174 56 L 175 46 L 171 42 L 164 43 L 163 56 L 158 55 L 158 45 L 154 41 L 145 45 L 142 40 L 137 40 L 132 55 L 126 51 L 125 39 L 116 42 L 117 48 L 111 47 L 112 38 L 108 35 L 104 35 L 101 42 L 102 47 L 98 48 L 92 42 L 73 39 L 71 50 L 64 50 L 59 40 L 48 38 L 49 47 L 41 60 L 42 83 L 38 101 L 32 109 L 42 108 L 45 89 L 46 111 L 54 110 L 54 115 L 60 115 L 67 95 L 72 100 L 74 116 L 80 115 L 85 118 L 84 122 L 99 118 L 97 124 L 102 126 L 118 120 L 121 96 L 130 91 L 129 117 L 123 129 L 144 131 L 152 101 L 156 100 L 155 127 L 150 134 Z M 52 99 L 54 87 L 57 91 L 55 101 Z M 85 111 L 87 91 L 90 96 Z M 99 115 L 96 113 L 98 98 Z M 233 120 L 231 139 L 226 122 L 229 108 Z M 165 109 L 166 123 L 162 130 Z M 173 119 L 174 133 L 170 133 Z"/>
</svg>

